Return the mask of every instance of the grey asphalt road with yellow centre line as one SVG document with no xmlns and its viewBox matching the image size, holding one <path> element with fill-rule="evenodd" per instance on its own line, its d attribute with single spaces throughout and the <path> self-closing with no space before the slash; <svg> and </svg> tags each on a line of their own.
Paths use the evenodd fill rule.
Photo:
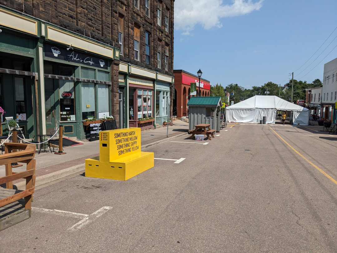
<svg viewBox="0 0 337 253">
<path fill-rule="evenodd" d="M 33 207 L 76 214 L 34 209 L 0 232 L 0 252 L 337 252 L 337 136 L 255 124 L 219 134 L 146 150 L 186 159 L 127 181 L 79 175 L 36 190 Z"/>
</svg>

